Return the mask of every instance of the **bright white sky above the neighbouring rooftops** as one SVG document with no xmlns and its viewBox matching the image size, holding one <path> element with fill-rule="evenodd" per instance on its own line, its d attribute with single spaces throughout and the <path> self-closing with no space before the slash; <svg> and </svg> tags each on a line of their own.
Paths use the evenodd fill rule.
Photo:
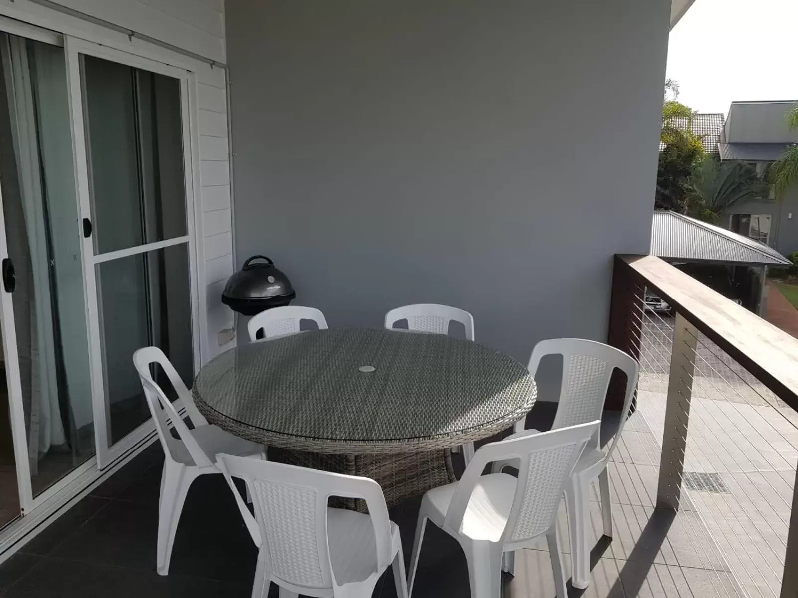
<svg viewBox="0 0 798 598">
<path fill-rule="evenodd" d="M 798 0 L 696 0 L 670 32 L 679 101 L 729 113 L 733 100 L 798 100 Z"/>
</svg>

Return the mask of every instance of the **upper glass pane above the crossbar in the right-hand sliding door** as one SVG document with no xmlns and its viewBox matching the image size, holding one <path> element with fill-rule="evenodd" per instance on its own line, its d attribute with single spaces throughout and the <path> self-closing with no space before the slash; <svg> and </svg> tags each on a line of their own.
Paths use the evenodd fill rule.
<svg viewBox="0 0 798 598">
<path fill-rule="evenodd" d="M 95 254 L 186 229 L 180 81 L 84 56 Z"/>
</svg>

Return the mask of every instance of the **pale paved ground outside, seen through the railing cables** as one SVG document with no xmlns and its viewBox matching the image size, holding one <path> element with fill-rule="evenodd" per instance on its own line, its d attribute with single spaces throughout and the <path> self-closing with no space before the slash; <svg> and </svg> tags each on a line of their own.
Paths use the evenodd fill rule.
<svg viewBox="0 0 798 598">
<path fill-rule="evenodd" d="M 786 301 L 773 287 L 776 293 Z M 674 321 L 646 313 L 643 324 L 638 412 L 662 439 Z M 798 412 L 704 335 L 692 387 L 686 494 L 745 595 L 776 598 L 796 479 Z"/>
</svg>

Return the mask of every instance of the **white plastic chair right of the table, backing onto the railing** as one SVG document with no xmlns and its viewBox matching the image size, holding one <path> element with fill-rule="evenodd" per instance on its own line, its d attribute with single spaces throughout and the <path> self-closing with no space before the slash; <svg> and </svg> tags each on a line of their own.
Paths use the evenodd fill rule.
<svg viewBox="0 0 798 598">
<path fill-rule="evenodd" d="M 590 582 L 590 487 L 595 478 L 599 478 L 604 535 L 612 537 L 612 502 L 607 465 L 629 417 L 640 367 L 625 352 L 606 344 L 583 339 L 551 339 L 542 340 L 535 345 L 528 366 L 532 376 L 537 374 L 540 360 L 547 355 L 563 356 L 563 379 L 557 413 L 554 423 L 551 424 L 552 430 L 602 419 L 612 372 L 617 368 L 626 374 L 626 397 L 621 421 L 609 450 L 605 453 L 601 448 L 599 428 L 587 443 L 566 487 L 568 533 L 571 540 L 571 584 L 575 588 L 587 588 Z M 523 428 L 522 419 L 516 423 L 516 432 Z M 494 470 L 501 470 L 505 465 L 512 463 L 496 463 Z M 508 555 L 506 568 L 511 571 L 512 561 L 512 555 Z"/>
</svg>

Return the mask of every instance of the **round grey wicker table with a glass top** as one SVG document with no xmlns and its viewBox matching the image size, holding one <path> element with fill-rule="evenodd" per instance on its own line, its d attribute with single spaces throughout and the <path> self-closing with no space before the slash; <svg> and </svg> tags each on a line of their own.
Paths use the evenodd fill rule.
<svg viewBox="0 0 798 598">
<path fill-rule="evenodd" d="M 451 447 L 511 426 L 537 391 L 522 364 L 469 340 L 332 329 L 224 352 L 192 394 L 270 459 L 373 478 L 393 506 L 454 481 Z"/>
</svg>

